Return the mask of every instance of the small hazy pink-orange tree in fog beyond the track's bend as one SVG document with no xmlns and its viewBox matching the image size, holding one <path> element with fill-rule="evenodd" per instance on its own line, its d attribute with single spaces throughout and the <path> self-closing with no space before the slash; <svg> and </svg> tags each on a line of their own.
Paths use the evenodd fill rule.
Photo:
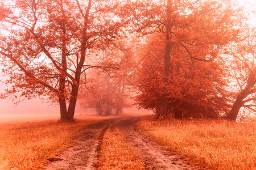
<svg viewBox="0 0 256 170">
<path fill-rule="evenodd" d="M 85 108 L 95 108 L 96 103 L 102 99 L 113 102 L 115 114 L 122 113 L 122 109 L 129 107 L 129 91 L 125 78 L 97 74 L 100 70 L 91 70 L 86 74 L 88 83 L 81 86 L 80 104 Z"/>
</svg>

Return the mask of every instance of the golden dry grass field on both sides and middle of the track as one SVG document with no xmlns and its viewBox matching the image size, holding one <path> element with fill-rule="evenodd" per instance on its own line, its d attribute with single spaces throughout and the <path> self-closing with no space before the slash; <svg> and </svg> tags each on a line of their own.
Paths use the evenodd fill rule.
<svg viewBox="0 0 256 170">
<path fill-rule="evenodd" d="M 31 119 L 30 122 L 27 118 L 0 121 L 0 169 L 43 168 L 49 163 L 48 158 L 57 157 L 72 145 L 71 138 L 80 129 L 112 118 L 79 116 L 75 123 L 56 121 L 56 118 Z M 112 126 L 114 120 L 125 119 L 115 117 L 100 137 L 98 169 L 147 169 L 141 153 L 135 152 L 133 146 L 127 143 L 122 130 Z M 149 138 L 202 168 L 256 169 L 254 123 L 152 120 L 151 116 L 144 116 L 136 127 Z"/>
</svg>

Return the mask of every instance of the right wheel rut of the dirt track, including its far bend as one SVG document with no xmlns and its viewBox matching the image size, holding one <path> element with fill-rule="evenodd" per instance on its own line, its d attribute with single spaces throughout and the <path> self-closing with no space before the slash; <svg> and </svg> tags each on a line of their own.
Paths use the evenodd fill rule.
<svg viewBox="0 0 256 170">
<path fill-rule="evenodd" d="M 139 117 L 127 117 L 116 125 L 126 136 L 127 143 L 141 155 L 147 169 L 197 169 L 171 151 L 162 150 L 156 142 L 135 130 Z"/>
</svg>

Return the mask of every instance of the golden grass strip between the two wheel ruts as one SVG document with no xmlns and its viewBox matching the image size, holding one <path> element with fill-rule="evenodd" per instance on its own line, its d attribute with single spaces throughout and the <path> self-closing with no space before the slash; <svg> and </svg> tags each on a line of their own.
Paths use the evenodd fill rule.
<svg viewBox="0 0 256 170">
<path fill-rule="evenodd" d="M 139 155 L 117 128 L 107 129 L 102 139 L 98 169 L 145 169 Z"/>
</svg>

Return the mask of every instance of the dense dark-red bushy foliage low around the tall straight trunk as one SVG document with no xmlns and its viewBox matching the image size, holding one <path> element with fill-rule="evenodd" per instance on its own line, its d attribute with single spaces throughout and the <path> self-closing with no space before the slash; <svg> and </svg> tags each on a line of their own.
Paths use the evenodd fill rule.
<svg viewBox="0 0 256 170">
<path fill-rule="evenodd" d="M 137 96 L 135 103 L 142 108 L 152 109 L 156 116 L 164 95 L 168 96 L 168 116 L 180 118 L 218 118 L 229 111 L 227 97 L 229 91 L 225 63 L 219 61 L 202 62 L 183 56 L 182 49 L 173 48 L 175 58 L 171 58 L 171 73 L 168 83 L 163 77 L 164 36 L 154 33 L 138 54 L 144 58 L 138 71 Z M 177 68 L 176 66 L 179 66 Z M 163 90 L 165 90 L 163 92 Z"/>
</svg>

